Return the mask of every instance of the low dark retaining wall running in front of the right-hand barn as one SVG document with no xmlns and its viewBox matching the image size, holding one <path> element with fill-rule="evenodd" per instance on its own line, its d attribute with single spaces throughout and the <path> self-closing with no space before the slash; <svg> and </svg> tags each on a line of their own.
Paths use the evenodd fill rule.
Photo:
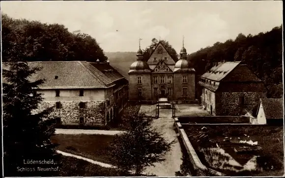
<svg viewBox="0 0 285 178">
<path fill-rule="evenodd" d="M 177 117 L 181 124 L 249 124 L 250 118 L 244 116 L 193 116 Z"/>
</svg>

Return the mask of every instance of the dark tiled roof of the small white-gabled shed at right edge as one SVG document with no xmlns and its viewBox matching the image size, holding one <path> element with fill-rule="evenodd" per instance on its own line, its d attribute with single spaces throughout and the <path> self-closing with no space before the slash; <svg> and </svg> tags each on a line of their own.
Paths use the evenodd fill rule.
<svg viewBox="0 0 285 178">
<path fill-rule="evenodd" d="M 284 119 L 283 99 L 260 99 L 257 113 L 260 108 L 260 104 L 263 107 L 264 115 L 266 119 Z"/>
</svg>

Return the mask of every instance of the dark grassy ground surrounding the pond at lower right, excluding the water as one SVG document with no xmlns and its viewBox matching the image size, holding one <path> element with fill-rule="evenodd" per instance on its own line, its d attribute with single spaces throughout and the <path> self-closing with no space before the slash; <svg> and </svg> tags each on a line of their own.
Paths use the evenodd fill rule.
<svg viewBox="0 0 285 178">
<path fill-rule="evenodd" d="M 206 128 L 201 129 L 202 127 Z M 231 138 L 230 142 L 239 142 L 240 140 L 257 141 L 257 146 L 261 147 L 255 154 L 259 155 L 256 162 L 259 168 L 262 167 L 262 171 L 244 172 L 243 174 L 246 176 L 282 176 L 284 174 L 284 138 L 282 126 L 191 125 L 184 129 L 191 144 L 196 152 L 198 152 L 199 158 L 206 166 L 211 167 L 211 165 L 207 165 L 203 158 L 203 153 L 200 153 L 198 150 L 200 150 L 200 148 L 215 148 L 216 143 L 221 146 L 223 142 L 225 142 L 225 138 L 228 137 L 228 139 Z M 199 137 L 198 135 L 202 136 Z M 244 155 L 241 154 L 239 158 L 243 159 Z M 246 159 L 246 157 L 244 157 L 244 159 Z M 271 166 L 273 166 L 273 168 Z M 232 172 L 227 173 L 231 174 Z"/>
</svg>

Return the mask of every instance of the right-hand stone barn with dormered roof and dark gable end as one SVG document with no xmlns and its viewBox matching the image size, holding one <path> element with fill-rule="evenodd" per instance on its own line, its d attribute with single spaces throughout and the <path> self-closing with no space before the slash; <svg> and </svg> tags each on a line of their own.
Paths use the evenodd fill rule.
<svg viewBox="0 0 285 178">
<path fill-rule="evenodd" d="M 252 113 L 260 98 L 266 98 L 266 88 L 241 61 L 216 63 L 200 77 L 201 105 L 211 115 Z"/>
</svg>

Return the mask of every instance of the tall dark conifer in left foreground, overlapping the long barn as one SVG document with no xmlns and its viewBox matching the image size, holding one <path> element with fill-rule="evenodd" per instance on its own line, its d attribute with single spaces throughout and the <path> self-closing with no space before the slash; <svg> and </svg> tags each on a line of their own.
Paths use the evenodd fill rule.
<svg viewBox="0 0 285 178">
<path fill-rule="evenodd" d="M 57 144 L 50 140 L 55 134 L 55 120 L 48 118 L 52 108 L 33 113 L 43 101 L 41 94 L 34 91 L 44 81 L 28 78 L 40 69 L 29 68 L 21 61 L 5 63 L 5 66 L 2 74 L 6 80 L 3 82 L 4 176 L 57 176 L 57 171 L 38 171 L 37 168 L 60 167 Z M 54 164 L 25 164 L 31 160 L 53 160 Z"/>
</svg>

